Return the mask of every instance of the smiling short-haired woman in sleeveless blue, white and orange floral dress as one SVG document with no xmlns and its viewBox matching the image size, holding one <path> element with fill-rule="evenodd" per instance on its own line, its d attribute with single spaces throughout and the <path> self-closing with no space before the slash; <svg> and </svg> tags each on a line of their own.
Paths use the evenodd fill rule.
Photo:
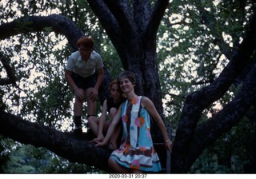
<svg viewBox="0 0 256 179">
<path fill-rule="evenodd" d="M 127 100 L 119 107 L 104 141 L 98 142 L 97 145 L 107 144 L 118 121 L 122 119 L 122 142 L 119 149 L 110 155 L 110 169 L 116 173 L 159 172 L 161 164 L 150 135 L 150 116 L 158 124 L 166 149 L 171 151 L 172 142 L 168 138 L 162 118 L 148 97 L 134 93 L 136 80 L 132 72 L 124 71 L 119 74 L 118 82 Z"/>
</svg>

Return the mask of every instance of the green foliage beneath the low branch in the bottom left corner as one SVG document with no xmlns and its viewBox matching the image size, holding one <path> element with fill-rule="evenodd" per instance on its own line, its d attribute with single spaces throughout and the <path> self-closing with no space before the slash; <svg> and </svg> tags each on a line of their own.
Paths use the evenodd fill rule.
<svg viewBox="0 0 256 179">
<path fill-rule="evenodd" d="M 71 163 L 33 145 L 16 145 L 2 173 L 102 173 L 94 167 Z"/>
</svg>

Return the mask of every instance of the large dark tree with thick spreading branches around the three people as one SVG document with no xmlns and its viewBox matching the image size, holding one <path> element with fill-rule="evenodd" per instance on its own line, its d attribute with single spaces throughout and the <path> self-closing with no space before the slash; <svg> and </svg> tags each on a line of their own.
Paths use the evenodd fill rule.
<svg viewBox="0 0 256 179">
<path fill-rule="evenodd" d="M 158 77 L 157 34 L 166 9 L 172 5 L 175 6 L 177 2 L 170 3 L 169 0 L 87 0 L 87 2 L 113 43 L 122 61 L 123 69 L 131 70 L 136 74 L 138 93 L 150 97 L 158 112 L 163 116 L 162 93 Z M 217 28 L 218 20 L 216 19 L 218 18 L 210 14 L 202 3 L 198 1 L 186 3 L 196 7 L 195 14 L 200 17 L 198 26 L 206 26 L 202 28 L 204 30 Z M 249 5 L 252 3 L 250 2 Z M 246 6 L 243 8 L 246 9 Z M 193 8 L 189 10 L 190 14 L 193 14 L 193 10 Z M 217 34 L 217 30 L 214 34 L 212 43 L 219 47 L 220 53 L 224 54 L 229 62 L 218 77 L 207 77 L 204 80 L 209 81 L 204 87 L 186 96 L 171 157 L 173 173 L 188 172 L 204 149 L 218 140 L 223 133 L 229 131 L 250 108 L 254 107 L 256 97 L 255 15 L 248 15 L 243 23 L 246 24 L 246 30 L 240 37 L 242 42 L 234 44 L 233 49 L 228 46 L 222 35 Z M 194 25 L 195 22 L 191 24 Z M 84 34 L 70 18 L 53 14 L 46 17 L 17 18 L 12 22 L 3 23 L 0 26 L 0 39 L 21 33 L 40 32 L 46 30 L 46 27 L 50 27 L 50 30 L 56 34 L 64 35 L 73 50 L 77 48 L 76 40 Z M 0 58 L 8 75 L 7 79 L 0 79 L 0 85 L 15 84 L 16 78 L 14 69 L 9 65 L 10 59 L 3 53 Z M 103 88 L 109 82 L 107 79 L 111 78 L 109 75 L 106 73 Z M 238 93 L 235 93 L 234 97 L 218 113 L 206 121 L 201 121 L 204 110 L 225 95 L 230 90 L 230 86 L 239 86 Z M 86 165 L 94 165 L 98 169 L 108 170 L 107 158 L 110 155 L 110 149 L 95 147 L 90 141 L 84 140 L 89 140 L 88 136 L 81 140 L 70 133 L 62 133 L 38 123 L 25 121 L 22 117 L 5 111 L 3 107 L 0 109 L 0 133 L 15 141 L 45 147 L 70 161 L 78 161 Z"/>
</svg>

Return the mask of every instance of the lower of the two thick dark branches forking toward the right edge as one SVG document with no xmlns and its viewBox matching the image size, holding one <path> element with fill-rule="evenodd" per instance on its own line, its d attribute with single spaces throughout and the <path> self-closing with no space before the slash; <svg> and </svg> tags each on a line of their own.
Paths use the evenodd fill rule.
<svg viewBox="0 0 256 179">
<path fill-rule="evenodd" d="M 226 133 L 232 126 L 238 123 L 240 119 L 246 114 L 248 109 L 254 104 L 256 100 L 256 65 L 250 70 L 242 88 L 238 94 L 234 97 L 229 104 L 218 112 L 214 117 L 210 118 L 206 122 L 195 129 L 194 143 L 200 145 L 191 145 L 192 156 L 198 156 L 200 150 L 206 149 L 208 145 L 211 145 L 221 137 L 223 133 Z M 232 113 L 230 113 L 232 111 Z M 200 134 L 201 135 L 200 135 Z M 202 133 L 205 135 L 202 136 Z M 207 140 L 206 140 L 207 139 Z M 195 155 L 194 155 L 195 154 Z M 194 158 L 195 160 L 196 158 Z M 193 162 L 193 161 L 192 161 Z"/>
</svg>

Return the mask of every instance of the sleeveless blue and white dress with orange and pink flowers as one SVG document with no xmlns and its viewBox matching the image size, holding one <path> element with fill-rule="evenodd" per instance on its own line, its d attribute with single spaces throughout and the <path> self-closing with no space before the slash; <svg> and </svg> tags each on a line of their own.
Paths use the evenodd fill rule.
<svg viewBox="0 0 256 179">
<path fill-rule="evenodd" d="M 150 114 L 141 100 L 135 97 L 122 103 L 122 142 L 110 157 L 129 169 L 158 172 L 161 164 L 150 134 Z"/>
</svg>

